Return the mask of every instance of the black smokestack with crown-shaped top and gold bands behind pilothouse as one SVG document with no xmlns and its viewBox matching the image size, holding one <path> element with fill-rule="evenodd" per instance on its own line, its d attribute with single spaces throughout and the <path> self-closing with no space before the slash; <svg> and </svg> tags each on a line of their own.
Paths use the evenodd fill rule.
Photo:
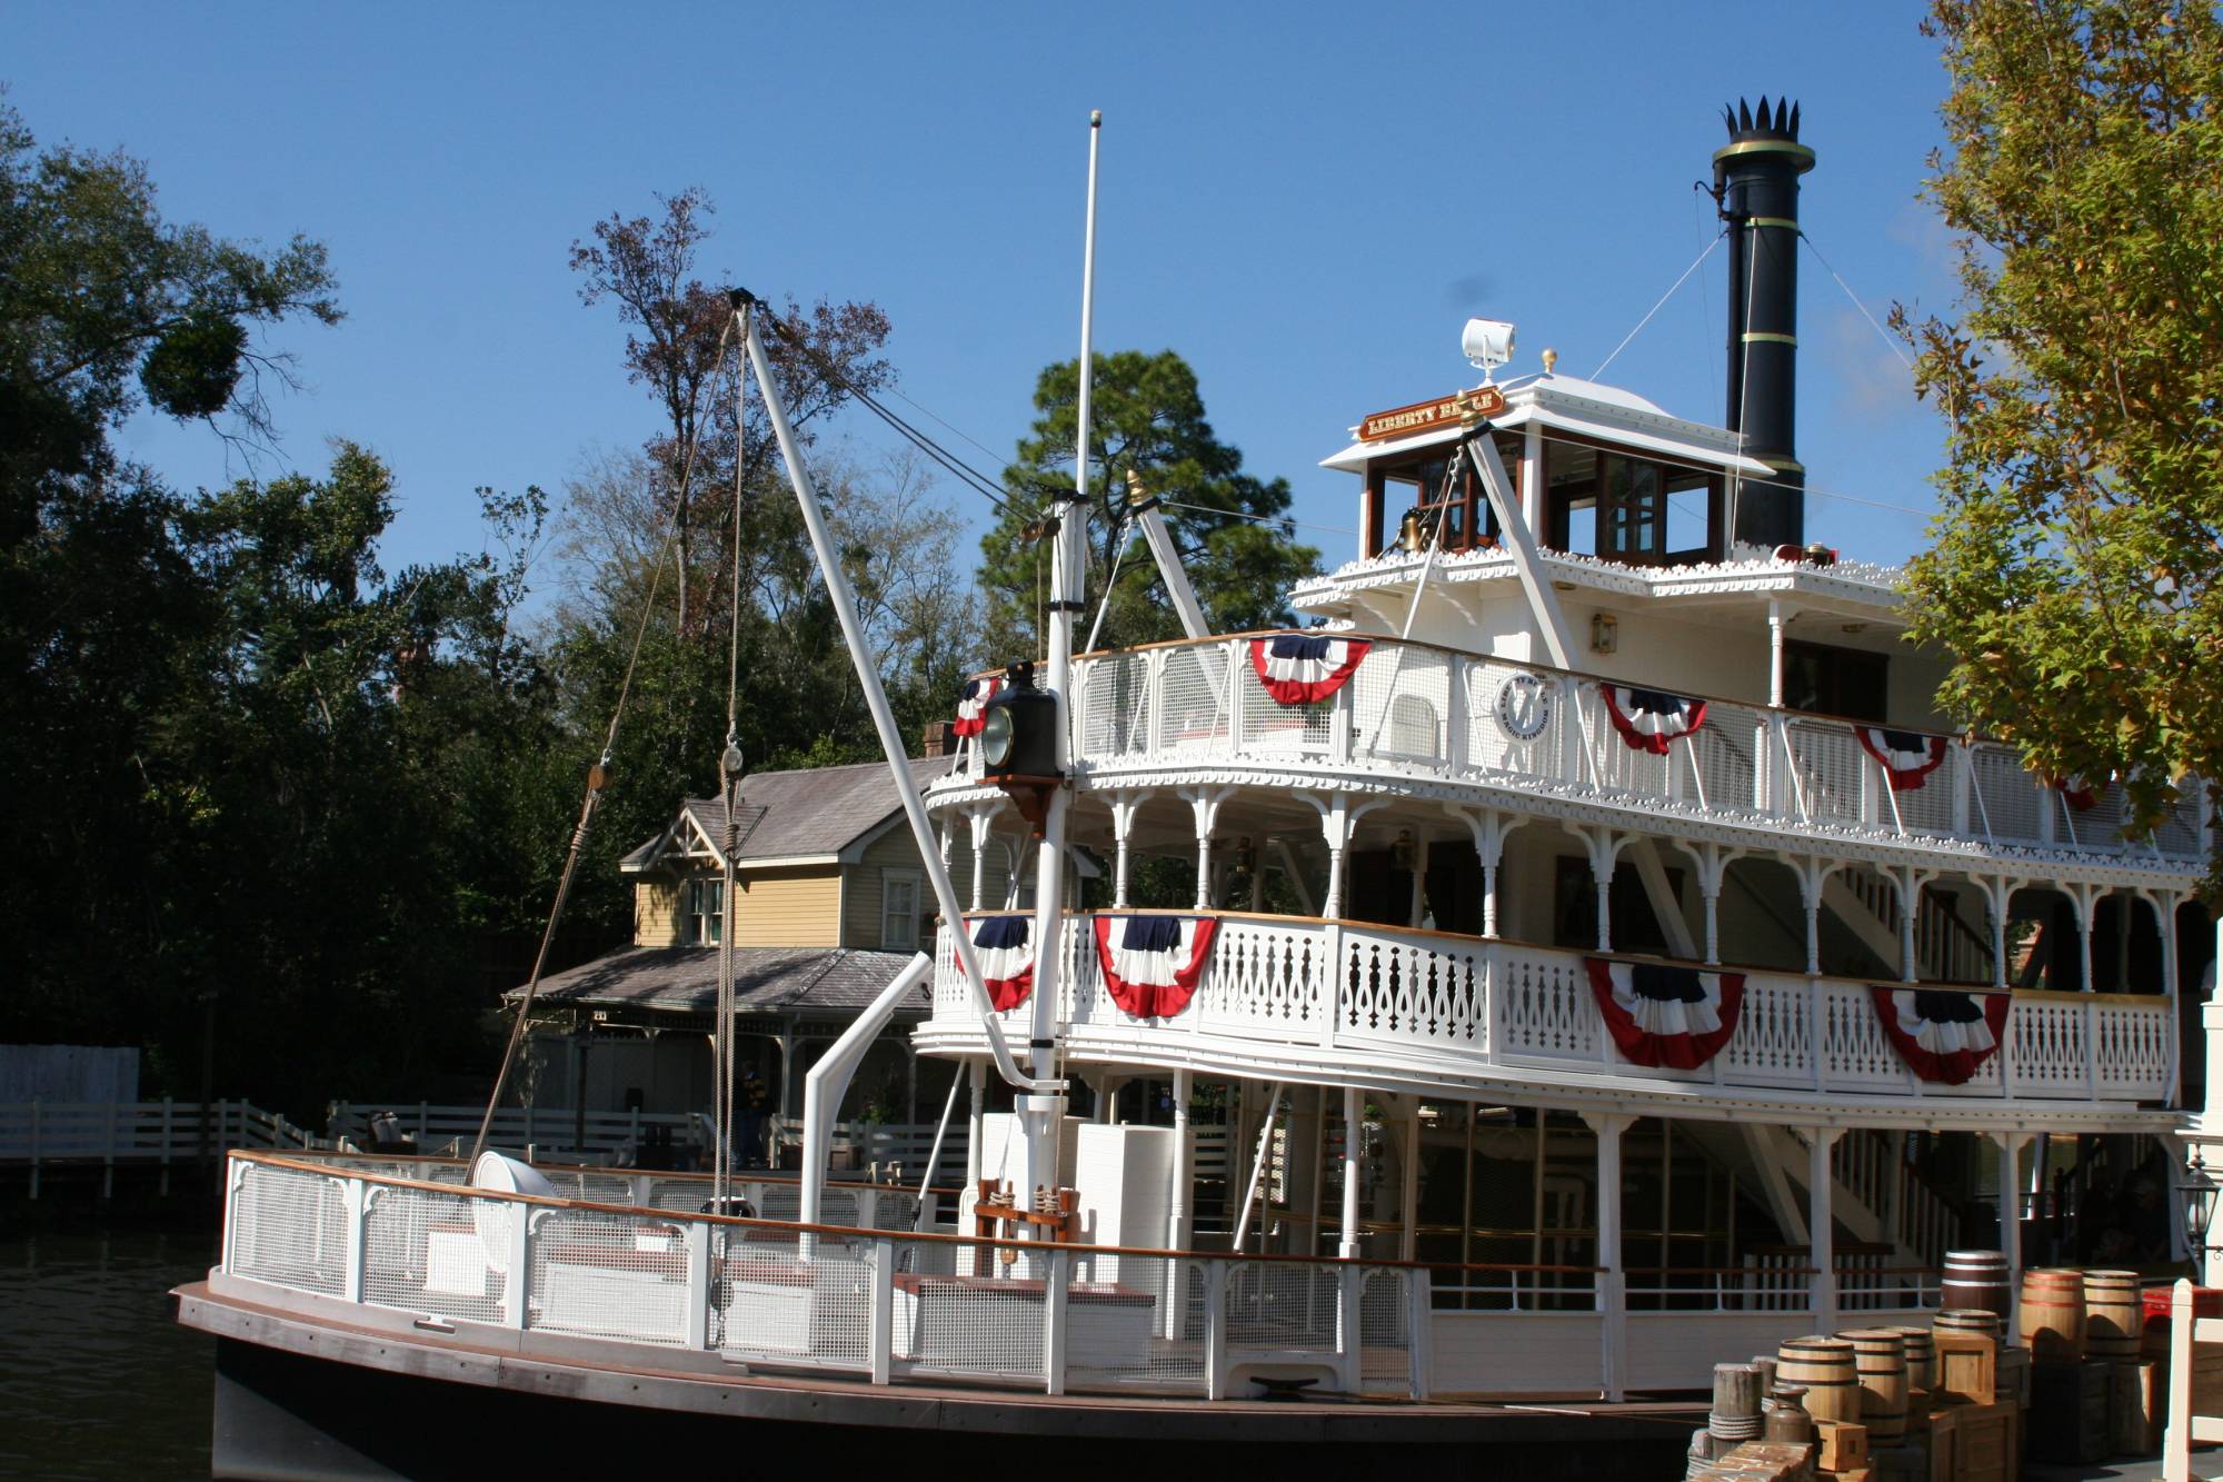
<svg viewBox="0 0 2223 1482">
<path fill-rule="evenodd" d="M 1798 105 L 1767 98 L 1723 109 L 1729 142 L 1714 151 L 1714 198 L 1729 223 L 1729 432 L 1776 470 L 1736 494 L 1736 539 L 1805 543 L 1805 465 L 1798 414 L 1798 176 L 1814 151 L 1798 142 Z"/>
</svg>

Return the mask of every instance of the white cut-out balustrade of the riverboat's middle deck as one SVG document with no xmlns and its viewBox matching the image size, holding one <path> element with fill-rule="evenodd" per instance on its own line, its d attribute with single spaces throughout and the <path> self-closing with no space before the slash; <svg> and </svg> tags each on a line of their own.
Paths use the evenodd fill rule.
<svg viewBox="0 0 2223 1482">
<path fill-rule="evenodd" d="M 1134 1019 L 1103 986 L 1094 919 L 1065 921 L 1060 1035 L 1083 1055 L 1185 1059 L 1180 1037 L 1240 1053 L 1376 1059 L 1396 1070 L 1592 1073 L 1696 1086 L 1858 1097 L 2159 1101 L 2170 1095 L 2170 999 L 2014 992 L 2005 1046 L 1965 1086 L 1918 1079 L 1892 1048 L 1865 981 L 1745 972 L 1743 1017 L 1698 1070 L 1627 1061 L 1598 1017 L 1583 952 L 1358 921 L 1214 912 L 1220 928 L 1196 997 Z M 927 1035 L 978 1033 L 947 932 Z M 1007 1033 L 1025 1033 L 1020 1006 Z"/>
</svg>

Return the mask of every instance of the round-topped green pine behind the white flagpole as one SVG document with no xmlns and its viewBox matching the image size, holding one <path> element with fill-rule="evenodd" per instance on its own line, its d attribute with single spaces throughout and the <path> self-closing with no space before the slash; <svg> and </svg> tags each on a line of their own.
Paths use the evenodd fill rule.
<svg viewBox="0 0 2223 1482">
<path fill-rule="evenodd" d="M 1005 470 L 1009 505 L 980 539 L 987 630 L 1003 634 L 1007 650 L 1018 650 L 998 656 L 1040 648 L 1040 601 L 1049 590 L 1040 523 L 1047 492 L 1071 487 L 1078 398 L 1078 360 L 1043 369 L 1034 387 L 1034 432 L 1020 438 Z M 1118 523 L 1129 472 L 1149 494 L 1169 501 L 1167 527 L 1214 632 L 1287 623 L 1283 592 L 1318 570 L 1320 552 L 1298 545 L 1294 527 L 1280 518 L 1289 510 L 1289 483 L 1245 474 L 1243 454 L 1212 432 L 1187 360 L 1172 349 L 1096 356 L 1089 418 L 1091 599 L 1100 599 L 1118 570 L 1098 643 L 1180 636 L 1147 545 L 1132 525 Z"/>
</svg>

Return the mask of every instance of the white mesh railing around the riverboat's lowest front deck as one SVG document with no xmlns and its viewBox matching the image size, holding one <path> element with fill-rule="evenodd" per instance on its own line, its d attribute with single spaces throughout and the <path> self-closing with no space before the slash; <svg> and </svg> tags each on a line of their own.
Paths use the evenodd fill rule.
<svg viewBox="0 0 2223 1482">
<path fill-rule="evenodd" d="M 805 1228 L 362 1162 L 236 1153 L 222 1271 L 433 1333 L 596 1337 L 874 1384 L 1223 1397 L 1243 1366 L 1272 1364 L 1343 1393 L 1429 1386 L 1418 1266 Z"/>
</svg>

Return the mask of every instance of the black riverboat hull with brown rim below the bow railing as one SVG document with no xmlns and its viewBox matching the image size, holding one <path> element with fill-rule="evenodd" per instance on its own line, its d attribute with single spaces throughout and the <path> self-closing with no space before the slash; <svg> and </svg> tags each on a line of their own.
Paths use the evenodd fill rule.
<svg viewBox="0 0 2223 1482">
<path fill-rule="evenodd" d="M 1372 1469 L 1649 1482 L 1681 1464 L 1692 1406 L 1149 1402 L 963 1386 L 887 1391 L 785 1375 L 587 1362 L 287 1313 L 196 1282 L 180 1322 L 216 1337 L 218 1478 L 478 1478 L 638 1469 L 762 1475 L 814 1451 L 843 1469 L 947 1464 L 998 1437 L 1054 1449 L 1063 1478 L 1278 1478 Z"/>
</svg>

